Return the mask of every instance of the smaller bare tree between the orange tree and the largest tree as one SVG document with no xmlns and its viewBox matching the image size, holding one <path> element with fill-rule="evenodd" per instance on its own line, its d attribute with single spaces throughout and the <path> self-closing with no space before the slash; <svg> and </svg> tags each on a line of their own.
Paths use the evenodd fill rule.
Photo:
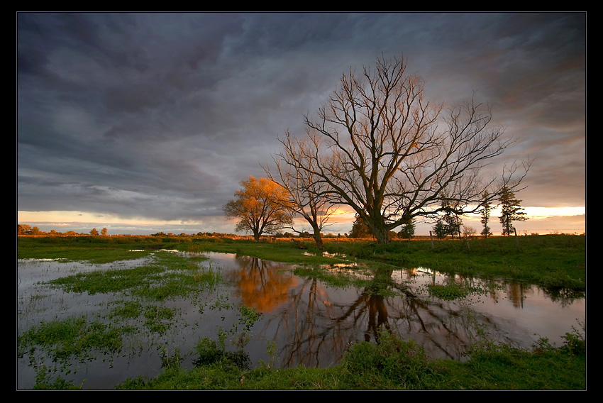
<svg viewBox="0 0 603 403">
<path fill-rule="evenodd" d="M 289 207 L 292 213 L 291 223 L 293 224 L 295 216 L 303 217 L 312 228 L 316 247 L 322 250 L 321 232 L 328 225 L 336 204 L 331 200 L 333 188 L 331 184 L 321 180 L 316 173 L 316 160 L 309 158 L 308 153 L 314 142 L 311 143 L 308 138 L 294 138 L 289 131 L 279 141 L 283 150 L 272 156 L 277 177 L 272 175 L 270 167 L 266 166 L 264 170 L 271 180 L 287 189 L 288 199 L 280 203 Z M 287 228 L 302 233 L 293 225 Z"/>
</svg>

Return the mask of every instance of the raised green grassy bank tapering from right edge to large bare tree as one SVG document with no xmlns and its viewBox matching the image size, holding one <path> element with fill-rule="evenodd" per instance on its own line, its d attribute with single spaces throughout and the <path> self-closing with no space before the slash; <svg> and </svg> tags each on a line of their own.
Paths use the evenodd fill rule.
<svg viewBox="0 0 603 403">
<path fill-rule="evenodd" d="M 480 238 L 469 241 L 328 243 L 331 253 L 428 267 L 464 275 L 504 277 L 547 289 L 586 288 L 586 237 L 570 235 Z"/>
</svg>

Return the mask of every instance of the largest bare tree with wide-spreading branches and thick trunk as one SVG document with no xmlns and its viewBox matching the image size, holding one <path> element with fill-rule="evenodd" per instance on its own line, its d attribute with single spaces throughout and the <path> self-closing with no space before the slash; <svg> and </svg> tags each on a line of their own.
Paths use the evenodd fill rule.
<svg viewBox="0 0 603 403">
<path fill-rule="evenodd" d="M 307 147 L 292 164 L 328 185 L 331 195 L 355 210 L 377 242 L 412 219 L 433 219 L 451 209 L 477 212 L 485 190 L 496 199 L 519 186 L 527 172 L 513 165 L 488 180 L 484 168 L 511 143 L 492 125 L 488 106 L 472 98 L 448 110 L 424 99 L 424 81 L 406 74 L 404 58 L 377 59 L 363 74 L 343 74 L 312 120 L 305 116 Z M 448 201 L 443 204 L 443 201 Z"/>
</svg>

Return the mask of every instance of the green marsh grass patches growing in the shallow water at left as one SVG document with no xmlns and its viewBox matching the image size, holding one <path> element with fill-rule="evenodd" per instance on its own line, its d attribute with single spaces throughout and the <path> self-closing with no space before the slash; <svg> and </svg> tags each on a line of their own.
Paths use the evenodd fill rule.
<svg viewBox="0 0 603 403">
<path fill-rule="evenodd" d="M 18 357 L 27 357 L 30 365 L 40 365 L 48 358 L 48 368 L 69 373 L 72 360 L 82 363 L 119 355 L 126 336 L 148 337 L 143 335 L 146 331 L 153 339 L 177 324 L 177 311 L 163 305 L 165 301 L 190 298 L 194 303 L 223 281 L 221 270 L 204 265 L 204 258 L 161 251 L 154 256 L 145 265 L 79 272 L 48 281 L 50 287 L 65 293 L 126 298 L 110 298 L 108 309 L 99 307 L 92 316 L 68 316 L 31 326 L 18 335 Z M 27 306 L 20 314 L 29 311 Z M 44 378 L 43 382 L 47 381 Z"/>
</svg>

